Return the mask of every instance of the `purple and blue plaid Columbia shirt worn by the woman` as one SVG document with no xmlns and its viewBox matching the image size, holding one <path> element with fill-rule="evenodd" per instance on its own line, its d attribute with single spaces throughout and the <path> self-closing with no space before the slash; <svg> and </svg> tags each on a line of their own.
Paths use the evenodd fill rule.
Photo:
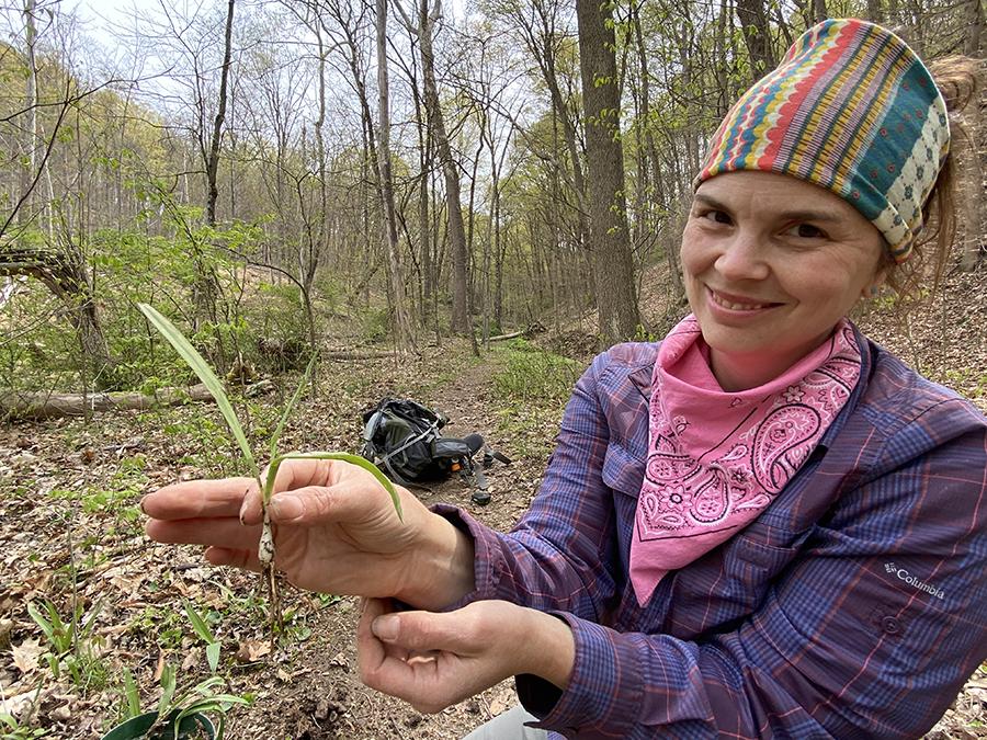
<svg viewBox="0 0 987 740">
<path fill-rule="evenodd" d="M 655 344 L 595 358 L 510 534 L 451 506 L 477 590 L 565 619 L 540 727 L 579 738 L 912 738 L 987 659 L 987 419 L 873 343 L 813 456 L 746 528 L 661 581 L 628 581 Z"/>
</svg>

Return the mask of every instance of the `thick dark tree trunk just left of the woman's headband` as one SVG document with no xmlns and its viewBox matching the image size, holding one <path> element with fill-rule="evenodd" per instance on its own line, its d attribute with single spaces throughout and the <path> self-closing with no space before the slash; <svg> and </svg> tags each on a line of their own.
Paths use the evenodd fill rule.
<svg viewBox="0 0 987 740">
<path fill-rule="evenodd" d="M 600 341 L 629 339 L 639 323 L 624 198 L 621 91 L 610 5 L 576 0 L 579 69 L 586 115 L 586 159 Z"/>
</svg>

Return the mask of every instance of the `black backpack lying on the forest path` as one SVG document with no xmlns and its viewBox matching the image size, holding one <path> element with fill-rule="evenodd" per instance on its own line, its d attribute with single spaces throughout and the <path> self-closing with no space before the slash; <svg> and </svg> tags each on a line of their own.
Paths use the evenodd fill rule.
<svg viewBox="0 0 987 740">
<path fill-rule="evenodd" d="M 409 486 L 444 480 L 457 473 L 473 488 L 474 502 L 490 502 L 483 468 L 495 459 L 510 460 L 484 444 L 479 434 L 463 439 L 444 437 L 441 429 L 449 418 L 407 398 L 385 398 L 363 412 L 363 451 L 371 463 L 382 467 L 395 482 Z M 484 451 L 481 467 L 473 457 Z"/>
</svg>

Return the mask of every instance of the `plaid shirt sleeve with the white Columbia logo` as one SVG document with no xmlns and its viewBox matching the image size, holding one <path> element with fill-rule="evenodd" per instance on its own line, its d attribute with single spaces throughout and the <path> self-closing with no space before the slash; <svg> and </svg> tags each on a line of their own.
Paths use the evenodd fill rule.
<svg viewBox="0 0 987 740">
<path fill-rule="evenodd" d="M 519 676 L 522 702 L 579 738 L 920 737 L 987 659 L 985 436 L 960 401 L 889 434 L 885 469 L 733 631 L 688 641 L 559 613 L 569 686 Z"/>
</svg>

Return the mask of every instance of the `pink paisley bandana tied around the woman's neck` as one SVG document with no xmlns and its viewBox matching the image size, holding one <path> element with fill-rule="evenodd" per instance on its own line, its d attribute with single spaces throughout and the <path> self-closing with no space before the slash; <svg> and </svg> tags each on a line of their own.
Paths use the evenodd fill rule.
<svg viewBox="0 0 987 740">
<path fill-rule="evenodd" d="M 749 524 L 808 458 L 860 377 L 843 319 L 771 383 L 725 392 L 693 316 L 672 329 L 651 379 L 648 460 L 631 543 L 631 583 L 644 606 L 670 570 Z"/>
</svg>

